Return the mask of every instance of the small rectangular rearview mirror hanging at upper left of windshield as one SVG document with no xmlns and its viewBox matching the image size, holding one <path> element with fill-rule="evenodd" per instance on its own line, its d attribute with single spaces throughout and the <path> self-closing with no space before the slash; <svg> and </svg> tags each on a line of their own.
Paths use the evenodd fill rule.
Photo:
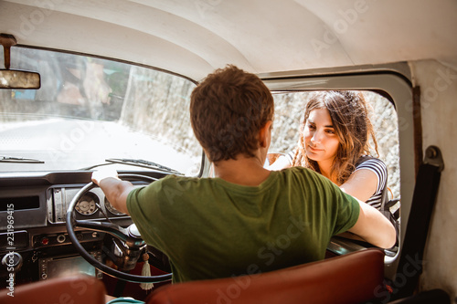
<svg viewBox="0 0 457 304">
<path fill-rule="evenodd" d="M 41 78 L 37 72 L 0 69 L 0 89 L 39 89 Z"/>
</svg>

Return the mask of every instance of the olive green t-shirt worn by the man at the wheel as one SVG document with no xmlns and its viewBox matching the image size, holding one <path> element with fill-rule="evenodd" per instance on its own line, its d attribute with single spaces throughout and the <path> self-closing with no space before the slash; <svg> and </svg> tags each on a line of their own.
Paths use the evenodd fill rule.
<svg viewBox="0 0 457 304">
<path fill-rule="evenodd" d="M 127 207 L 146 243 L 169 257 L 173 281 L 227 278 L 324 258 L 359 204 L 321 174 L 293 167 L 259 186 L 170 175 L 133 190 Z"/>
</svg>

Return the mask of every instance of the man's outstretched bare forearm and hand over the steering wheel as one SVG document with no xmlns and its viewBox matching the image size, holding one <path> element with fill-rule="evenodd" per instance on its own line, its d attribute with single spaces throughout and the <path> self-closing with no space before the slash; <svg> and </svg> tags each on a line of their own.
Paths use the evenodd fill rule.
<svg viewBox="0 0 457 304">
<path fill-rule="evenodd" d="M 127 196 L 134 189 L 132 183 L 121 181 L 117 177 L 116 171 L 95 171 L 92 173 L 92 182 L 101 187 L 106 198 L 116 210 L 129 215 Z"/>
</svg>

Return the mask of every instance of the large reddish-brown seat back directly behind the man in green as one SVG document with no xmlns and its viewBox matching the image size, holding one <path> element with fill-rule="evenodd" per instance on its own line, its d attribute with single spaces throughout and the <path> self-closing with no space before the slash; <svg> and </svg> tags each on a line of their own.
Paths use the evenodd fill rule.
<svg viewBox="0 0 457 304">
<path fill-rule="evenodd" d="M 237 278 L 157 288 L 147 304 L 360 303 L 384 290 L 384 252 L 370 248 Z"/>
</svg>

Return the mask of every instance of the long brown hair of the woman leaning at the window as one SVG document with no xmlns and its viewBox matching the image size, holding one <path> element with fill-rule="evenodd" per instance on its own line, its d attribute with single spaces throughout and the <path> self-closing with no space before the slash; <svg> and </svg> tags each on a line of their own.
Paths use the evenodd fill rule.
<svg viewBox="0 0 457 304">
<path fill-rule="evenodd" d="M 377 140 L 368 117 L 367 103 L 363 94 L 354 90 L 318 91 L 311 97 L 304 111 L 300 138 L 292 165 L 307 167 L 320 173 L 317 162 L 306 156 L 303 139 L 306 121 L 311 111 L 316 109 L 329 111 L 335 134 L 340 142 L 330 172 L 330 180 L 340 185 L 345 183 L 354 172 L 360 156 L 370 154 L 371 146 L 368 141 L 370 136 L 377 152 Z"/>
</svg>

